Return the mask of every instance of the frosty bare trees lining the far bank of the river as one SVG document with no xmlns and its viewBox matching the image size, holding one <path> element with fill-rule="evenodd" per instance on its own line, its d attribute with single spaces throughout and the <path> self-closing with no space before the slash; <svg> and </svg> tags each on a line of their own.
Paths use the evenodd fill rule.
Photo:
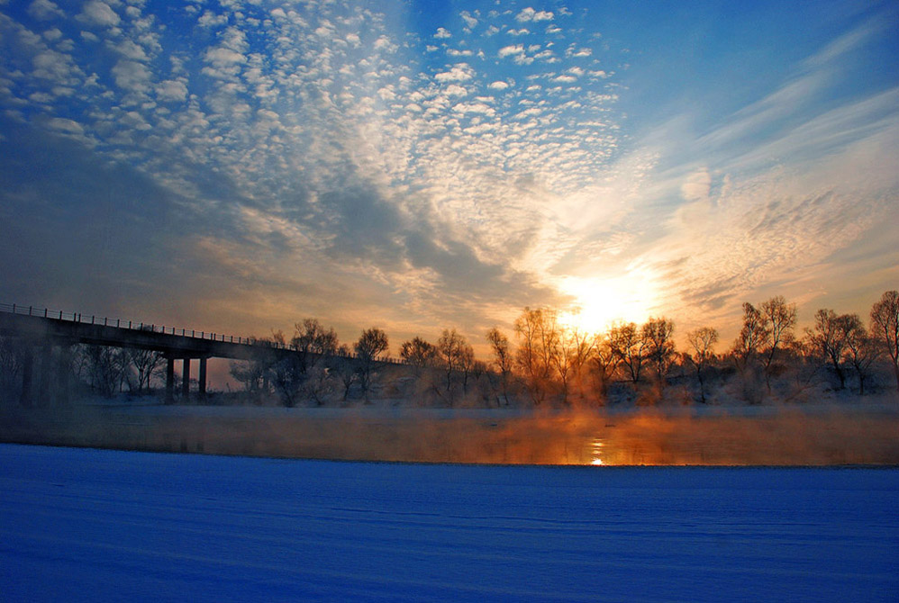
<svg viewBox="0 0 899 603">
<path fill-rule="evenodd" d="M 334 329 L 309 318 L 297 322 L 289 338 L 283 331 L 260 338 L 270 349 L 259 347 L 250 361 L 232 362 L 230 373 L 250 400 L 288 407 L 374 397 L 449 407 L 709 403 L 722 396 L 760 403 L 802 400 L 821 388 L 865 395 L 884 389 L 890 373 L 899 390 L 896 291 L 874 303 L 867 324 L 858 314 L 821 309 L 800 332 L 796 305 L 782 296 L 746 302 L 742 311 L 737 338 L 719 351 L 721 338 L 712 327 L 686 333 L 686 349 L 678 350 L 675 325 L 665 317 L 619 321 L 589 333 L 564 325 L 555 309 L 525 308 L 511 333 L 495 327 L 484 334 L 485 360 L 449 328 L 432 343 L 420 337 L 403 341 L 400 365 L 384 361 L 384 330 L 363 329 L 355 341 L 341 343 Z M 0 338 L 0 388 L 7 398 L 21 377 L 23 345 Z M 277 353 L 283 348 L 294 353 Z M 153 383 L 164 381 L 159 352 L 78 345 L 63 353 L 83 390 L 150 392 Z"/>
</svg>

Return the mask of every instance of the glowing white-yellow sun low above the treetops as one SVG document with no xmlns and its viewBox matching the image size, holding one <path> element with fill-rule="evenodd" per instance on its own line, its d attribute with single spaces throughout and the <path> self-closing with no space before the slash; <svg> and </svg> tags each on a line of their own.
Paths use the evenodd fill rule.
<svg viewBox="0 0 899 603">
<path fill-rule="evenodd" d="M 559 289 L 574 298 L 559 319 L 569 328 L 590 333 L 609 329 L 617 320 L 642 323 L 649 318 L 658 293 L 646 269 L 607 278 L 566 276 Z"/>
</svg>

